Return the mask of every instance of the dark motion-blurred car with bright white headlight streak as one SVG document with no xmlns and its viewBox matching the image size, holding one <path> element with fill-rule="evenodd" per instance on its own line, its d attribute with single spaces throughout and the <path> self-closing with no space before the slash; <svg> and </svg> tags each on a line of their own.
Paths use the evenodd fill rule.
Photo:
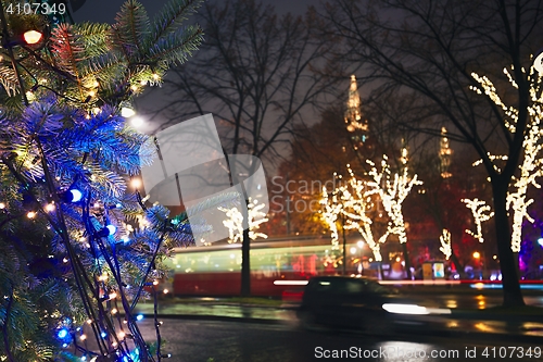
<svg viewBox="0 0 543 362">
<path fill-rule="evenodd" d="M 393 334 L 399 325 L 419 326 L 429 310 L 396 289 L 368 277 L 317 276 L 305 286 L 298 309 L 302 327 L 355 328 L 369 334 Z"/>
</svg>

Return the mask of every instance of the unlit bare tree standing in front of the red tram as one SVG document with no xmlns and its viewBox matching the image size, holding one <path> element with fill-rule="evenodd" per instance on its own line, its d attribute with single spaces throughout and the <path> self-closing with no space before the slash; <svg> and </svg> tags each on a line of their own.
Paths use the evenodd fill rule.
<svg viewBox="0 0 543 362">
<path fill-rule="evenodd" d="M 330 42 L 314 37 L 314 14 L 278 16 L 254 0 L 206 2 L 199 11 L 205 41 L 165 79 L 165 126 L 212 113 L 228 154 L 280 157 L 296 123 L 321 104 L 337 79 L 317 72 Z M 319 64 L 320 63 L 320 64 Z M 306 112 L 310 111 L 310 112 Z M 231 170 L 232 174 L 251 170 Z M 242 242 L 241 295 L 251 294 L 250 237 Z"/>
</svg>

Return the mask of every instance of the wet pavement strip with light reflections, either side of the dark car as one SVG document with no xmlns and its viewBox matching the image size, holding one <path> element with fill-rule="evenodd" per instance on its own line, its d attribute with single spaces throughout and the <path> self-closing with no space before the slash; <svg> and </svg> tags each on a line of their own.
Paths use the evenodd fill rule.
<svg viewBox="0 0 543 362">
<path fill-rule="evenodd" d="M 488 313 L 458 313 L 452 310 L 451 315 L 443 316 L 439 328 L 420 330 L 421 335 L 449 338 L 470 338 L 476 340 L 502 340 L 543 345 L 543 319 L 531 315 L 497 315 Z M 137 314 L 147 317 L 153 315 L 152 303 L 139 303 Z M 283 324 L 299 326 L 295 307 L 254 305 L 226 303 L 220 299 L 202 300 L 201 302 L 175 303 L 172 301 L 159 304 L 162 319 L 186 319 L 203 321 L 232 321 L 243 323 Z"/>
</svg>

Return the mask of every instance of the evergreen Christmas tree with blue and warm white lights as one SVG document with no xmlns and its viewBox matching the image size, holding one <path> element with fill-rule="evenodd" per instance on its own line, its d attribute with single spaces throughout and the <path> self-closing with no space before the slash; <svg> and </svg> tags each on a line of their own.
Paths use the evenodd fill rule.
<svg viewBox="0 0 543 362">
<path fill-rule="evenodd" d="M 185 214 L 130 186 L 155 147 L 121 110 L 198 48 L 201 28 L 181 24 L 200 2 L 151 21 L 128 0 L 114 25 L 66 23 L 59 1 L 0 2 L 1 361 L 163 358 L 159 327 L 151 348 L 132 310 L 193 240 Z"/>
</svg>

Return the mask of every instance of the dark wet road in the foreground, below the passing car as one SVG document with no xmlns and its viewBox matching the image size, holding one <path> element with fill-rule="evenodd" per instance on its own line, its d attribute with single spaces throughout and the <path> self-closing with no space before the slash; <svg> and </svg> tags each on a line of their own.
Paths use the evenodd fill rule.
<svg viewBox="0 0 543 362">
<path fill-rule="evenodd" d="M 153 339 L 152 321 L 141 329 Z M 164 353 L 172 362 L 305 361 L 543 361 L 542 346 L 431 336 L 376 338 L 344 332 L 306 332 L 289 325 L 164 320 Z"/>
</svg>

